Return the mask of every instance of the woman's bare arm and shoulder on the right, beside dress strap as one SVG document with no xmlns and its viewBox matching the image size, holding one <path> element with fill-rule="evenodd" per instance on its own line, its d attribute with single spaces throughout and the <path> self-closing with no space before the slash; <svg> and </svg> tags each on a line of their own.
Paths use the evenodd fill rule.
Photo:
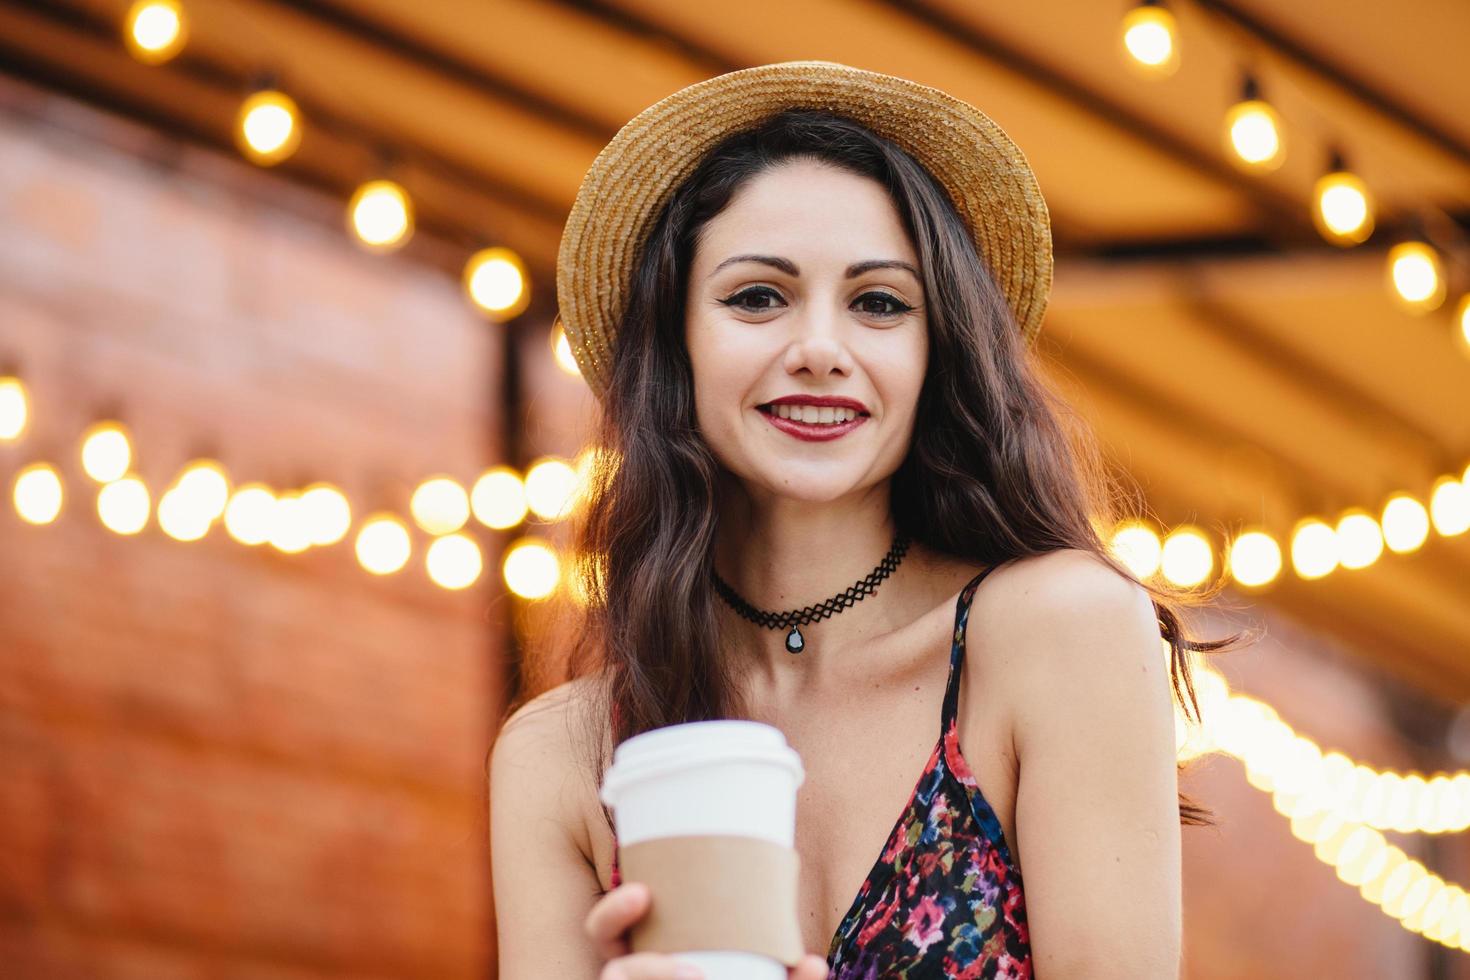
<svg viewBox="0 0 1470 980">
<path fill-rule="evenodd" d="M 1147 592 L 1083 551 L 1017 563 L 986 604 L 1010 693 L 1036 980 L 1177 980 L 1175 710 Z"/>
</svg>

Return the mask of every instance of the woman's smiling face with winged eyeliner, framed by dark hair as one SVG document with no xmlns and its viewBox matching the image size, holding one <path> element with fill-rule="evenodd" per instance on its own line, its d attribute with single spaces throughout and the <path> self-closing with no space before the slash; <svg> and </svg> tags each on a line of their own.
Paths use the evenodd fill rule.
<svg viewBox="0 0 1470 980">
<path fill-rule="evenodd" d="M 898 469 L 929 329 L 919 257 L 882 185 L 814 160 L 751 178 L 706 223 L 686 300 L 700 430 L 753 495 L 832 501 Z M 850 398 L 864 417 L 792 426 L 763 408 L 788 395 Z"/>
</svg>

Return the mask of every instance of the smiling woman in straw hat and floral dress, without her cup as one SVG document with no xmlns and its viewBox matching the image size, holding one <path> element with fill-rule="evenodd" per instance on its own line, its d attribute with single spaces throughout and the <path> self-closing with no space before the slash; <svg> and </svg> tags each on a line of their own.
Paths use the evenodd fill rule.
<svg viewBox="0 0 1470 980">
<path fill-rule="evenodd" d="M 575 680 L 491 760 L 501 977 L 686 976 L 629 955 L 651 896 L 595 793 L 617 742 L 714 717 L 806 767 L 792 977 L 1177 977 L 1172 695 L 1223 644 L 1100 539 L 1026 351 L 1050 248 L 992 122 L 847 66 L 701 82 L 603 151 L 559 298 L 607 453 Z"/>
</svg>

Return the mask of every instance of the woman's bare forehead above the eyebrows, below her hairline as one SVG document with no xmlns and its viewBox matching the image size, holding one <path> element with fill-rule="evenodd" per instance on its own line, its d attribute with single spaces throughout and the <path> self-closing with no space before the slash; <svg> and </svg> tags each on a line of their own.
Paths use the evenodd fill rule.
<svg viewBox="0 0 1470 980">
<path fill-rule="evenodd" d="M 751 248 L 791 259 L 828 256 L 844 264 L 917 259 L 898 209 L 878 181 L 814 160 L 781 163 L 741 185 L 706 223 L 694 263 L 713 264 Z"/>
</svg>

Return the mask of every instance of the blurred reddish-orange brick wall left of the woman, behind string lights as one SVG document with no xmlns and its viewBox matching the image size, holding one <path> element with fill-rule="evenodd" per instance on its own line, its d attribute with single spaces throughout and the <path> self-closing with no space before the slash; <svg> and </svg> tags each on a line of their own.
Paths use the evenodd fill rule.
<svg viewBox="0 0 1470 980">
<path fill-rule="evenodd" d="M 197 454 L 407 514 L 498 461 L 498 332 L 343 201 L 0 87 L 0 976 L 492 974 L 484 758 L 507 599 L 220 530 L 106 530 L 76 460 L 131 428 L 154 497 Z M 62 469 L 31 527 L 22 464 Z"/>
</svg>

